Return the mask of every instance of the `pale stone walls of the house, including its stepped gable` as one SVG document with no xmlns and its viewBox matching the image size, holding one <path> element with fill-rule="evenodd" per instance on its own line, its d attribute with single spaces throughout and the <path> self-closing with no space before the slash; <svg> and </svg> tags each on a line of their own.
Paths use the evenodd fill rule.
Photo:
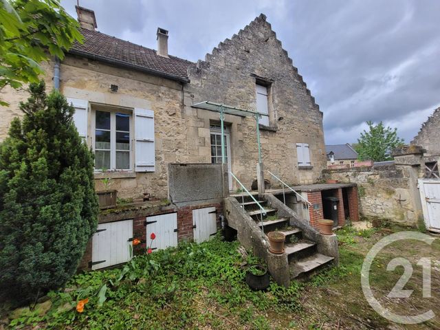
<svg viewBox="0 0 440 330">
<path fill-rule="evenodd" d="M 53 65 L 43 64 L 48 89 L 53 87 Z M 92 108 L 140 107 L 155 113 L 155 171 L 96 173 L 97 190 L 103 188 L 102 177 L 111 177 L 118 197 L 141 197 L 144 191 L 167 197 L 168 164 L 211 162 L 210 125 L 219 122 L 219 113 L 192 104 L 210 100 L 254 111 L 256 83 L 266 84 L 269 91 L 270 126 L 261 126 L 265 169 L 290 184 L 318 180 L 326 166 L 322 112 L 264 15 L 190 67 L 188 78 L 190 83 L 173 81 L 67 54 L 61 63 L 60 87 L 66 97 L 88 100 Z M 110 85 L 118 85 L 118 91 L 111 91 Z M 1 141 L 12 118 L 21 116 L 18 104 L 27 94 L 3 89 L 0 97 L 10 102 L 10 107 L 0 109 Z M 90 112 L 89 136 L 94 133 Z M 230 129 L 232 172 L 250 188 L 258 162 L 256 122 L 226 115 L 225 123 Z M 91 140 L 87 143 L 91 146 Z M 309 144 L 311 166 L 298 167 L 296 143 Z"/>
</svg>

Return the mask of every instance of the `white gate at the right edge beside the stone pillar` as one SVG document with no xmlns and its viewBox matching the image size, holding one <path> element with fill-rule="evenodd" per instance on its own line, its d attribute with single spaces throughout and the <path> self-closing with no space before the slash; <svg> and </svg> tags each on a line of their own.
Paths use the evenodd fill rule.
<svg viewBox="0 0 440 330">
<path fill-rule="evenodd" d="M 423 218 L 428 230 L 440 230 L 440 180 L 419 179 Z"/>
</svg>

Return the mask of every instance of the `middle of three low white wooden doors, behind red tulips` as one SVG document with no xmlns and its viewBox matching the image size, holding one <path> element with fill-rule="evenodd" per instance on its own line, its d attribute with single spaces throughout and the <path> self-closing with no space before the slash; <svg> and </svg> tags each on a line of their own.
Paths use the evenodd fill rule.
<svg viewBox="0 0 440 330">
<path fill-rule="evenodd" d="M 151 240 L 154 232 L 156 238 Z M 146 217 L 146 248 L 151 250 L 177 246 L 177 213 L 159 214 Z"/>
</svg>

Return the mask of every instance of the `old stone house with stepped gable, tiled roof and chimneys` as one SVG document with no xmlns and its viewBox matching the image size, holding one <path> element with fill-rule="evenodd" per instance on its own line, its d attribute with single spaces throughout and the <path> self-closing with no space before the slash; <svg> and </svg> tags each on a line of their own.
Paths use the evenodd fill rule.
<svg viewBox="0 0 440 330">
<path fill-rule="evenodd" d="M 192 63 L 168 54 L 168 31 L 162 28 L 157 29 L 157 50 L 151 50 L 98 32 L 94 12 L 78 6 L 76 10 L 85 42 L 74 45 L 61 63 L 56 59 L 43 63 L 47 87 L 60 89 L 76 108 L 78 132 L 95 153 L 96 190 L 104 188 L 102 178 L 110 177 L 118 197 L 137 199 L 144 193 L 155 197 L 150 203 L 101 212 L 96 235 L 118 232 L 118 239 L 95 235 L 82 267 L 97 269 L 126 261 L 126 252 L 122 259 L 115 253 L 104 256 L 108 246 L 123 248 L 138 236 L 145 247 L 152 231 L 167 237 L 156 240 L 155 248 L 176 245 L 181 239 L 203 241 L 220 223 L 231 221 L 232 211 L 223 210 L 224 199 L 237 188 L 250 189 L 259 163 L 264 169 L 260 167 L 258 175 L 264 171 L 272 186 L 280 182 L 267 171 L 298 186 L 303 197 L 290 192 L 289 203 L 307 218 L 303 228 L 307 235 L 327 242 L 318 244 L 322 253 L 328 252 L 322 248 L 328 240 L 310 229 L 324 217 L 322 190 L 340 197 L 337 223 L 344 224 L 344 209 L 351 219 L 358 219 L 355 185 L 313 185 L 327 162 L 322 112 L 265 15 L 219 43 L 204 61 Z M 26 94 L 7 90 L 1 97 L 10 102 L 1 109 L 3 140 L 10 120 L 21 115 L 17 105 Z M 208 104 L 226 109 L 223 129 L 221 114 Z M 255 118 L 246 115 L 257 111 L 260 115 Z M 302 199 L 313 208 L 303 207 Z M 289 219 L 296 217 L 289 213 L 292 210 L 285 212 Z M 240 229 L 234 229 L 240 238 Z M 267 245 L 264 239 L 260 243 Z M 332 246 L 333 252 L 326 253 L 337 257 Z M 261 254 L 270 258 L 265 250 Z M 287 254 L 283 258 L 285 267 Z M 329 260 L 320 255 L 315 266 Z"/>
</svg>

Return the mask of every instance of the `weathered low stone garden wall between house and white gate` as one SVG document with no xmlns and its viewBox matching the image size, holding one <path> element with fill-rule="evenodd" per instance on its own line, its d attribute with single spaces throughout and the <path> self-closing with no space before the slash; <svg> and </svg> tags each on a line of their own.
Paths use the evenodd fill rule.
<svg viewBox="0 0 440 330">
<path fill-rule="evenodd" d="M 358 184 L 360 213 L 364 217 L 380 217 L 404 225 L 416 225 L 421 217 L 417 173 L 418 168 L 397 164 L 329 169 L 324 171 L 324 177 Z"/>
</svg>

